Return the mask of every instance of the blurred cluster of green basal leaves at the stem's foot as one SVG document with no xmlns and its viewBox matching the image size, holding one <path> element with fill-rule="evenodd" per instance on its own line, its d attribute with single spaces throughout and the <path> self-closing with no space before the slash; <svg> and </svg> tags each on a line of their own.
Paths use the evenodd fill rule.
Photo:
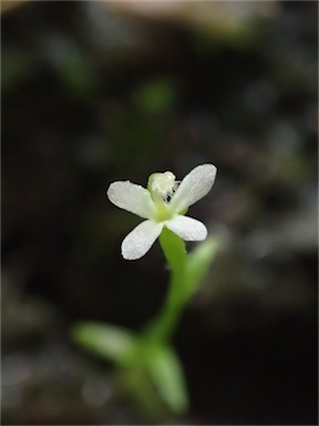
<svg viewBox="0 0 319 426">
<path fill-rule="evenodd" d="M 94 322 L 75 324 L 71 336 L 85 351 L 122 367 L 130 382 L 126 387 L 135 389 L 137 386 L 138 400 L 145 399 L 143 389 L 148 389 L 148 394 L 153 386 L 173 413 L 187 408 L 183 371 L 167 344 L 145 341 L 123 328 Z"/>
</svg>

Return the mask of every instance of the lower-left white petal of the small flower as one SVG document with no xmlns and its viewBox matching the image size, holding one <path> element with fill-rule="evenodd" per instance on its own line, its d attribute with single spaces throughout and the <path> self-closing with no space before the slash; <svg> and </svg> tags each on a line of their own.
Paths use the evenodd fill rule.
<svg viewBox="0 0 319 426">
<path fill-rule="evenodd" d="M 163 230 L 163 223 L 144 221 L 140 223 L 122 243 L 122 256 L 127 261 L 134 261 L 144 256 L 155 243 Z"/>
</svg>

